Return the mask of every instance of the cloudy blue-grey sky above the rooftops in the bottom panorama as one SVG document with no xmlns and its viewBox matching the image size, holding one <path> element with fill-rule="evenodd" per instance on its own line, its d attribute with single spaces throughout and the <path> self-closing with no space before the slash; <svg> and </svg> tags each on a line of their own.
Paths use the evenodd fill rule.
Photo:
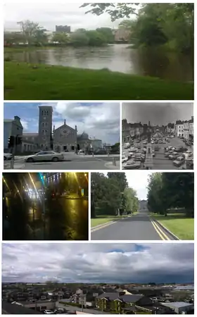
<svg viewBox="0 0 197 317">
<path fill-rule="evenodd" d="M 193 282 L 193 243 L 3 244 L 2 282 Z"/>
</svg>

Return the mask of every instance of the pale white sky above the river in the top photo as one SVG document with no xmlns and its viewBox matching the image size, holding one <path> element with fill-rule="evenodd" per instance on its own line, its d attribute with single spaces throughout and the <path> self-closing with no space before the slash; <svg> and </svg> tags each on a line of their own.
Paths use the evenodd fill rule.
<svg viewBox="0 0 197 317">
<path fill-rule="evenodd" d="M 32 20 L 39 23 L 49 31 L 55 31 L 56 25 L 70 25 L 71 31 L 78 28 L 94 30 L 96 27 L 116 28 L 122 19 L 111 22 L 110 16 L 106 13 L 100 16 L 86 15 L 89 8 L 80 8 L 83 2 L 79 3 L 58 3 L 58 1 L 20 1 L 6 0 L 4 5 L 4 27 L 6 30 L 19 30 L 17 22 L 21 20 Z M 21 1 L 22 2 L 22 1 Z"/>
</svg>

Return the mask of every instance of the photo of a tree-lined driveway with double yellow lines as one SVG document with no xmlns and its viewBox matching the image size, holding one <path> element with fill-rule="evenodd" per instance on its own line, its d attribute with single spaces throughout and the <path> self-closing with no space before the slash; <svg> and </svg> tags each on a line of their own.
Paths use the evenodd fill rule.
<svg viewBox="0 0 197 317">
<path fill-rule="evenodd" d="M 91 240 L 193 239 L 193 173 L 91 173 Z"/>
</svg>

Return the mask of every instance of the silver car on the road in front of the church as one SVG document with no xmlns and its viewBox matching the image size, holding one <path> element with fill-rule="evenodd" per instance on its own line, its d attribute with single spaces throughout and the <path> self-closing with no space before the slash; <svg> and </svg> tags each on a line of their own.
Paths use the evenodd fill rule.
<svg viewBox="0 0 197 317">
<path fill-rule="evenodd" d="M 37 154 L 27 156 L 25 158 L 25 161 L 27 163 L 30 162 L 38 162 L 38 161 L 52 161 L 52 162 L 58 162 L 58 161 L 63 161 L 64 156 L 61 153 L 57 153 L 54 151 L 41 151 Z"/>
</svg>

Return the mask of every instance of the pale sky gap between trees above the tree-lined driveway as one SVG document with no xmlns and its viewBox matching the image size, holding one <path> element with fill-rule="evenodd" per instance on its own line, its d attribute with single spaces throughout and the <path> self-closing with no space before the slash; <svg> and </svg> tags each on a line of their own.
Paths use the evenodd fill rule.
<svg viewBox="0 0 197 317">
<path fill-rule="evenodd" d="M 108 172 L 103 174 L 107 175 Z M 153 172 L 152 172 L 153 173 Z M 149 170 L 127 170 L 126 177 L 129 187 L 136 190 L 137 197 L 147 199 L 148 175 L 152 174 Z"/>
</svg>

